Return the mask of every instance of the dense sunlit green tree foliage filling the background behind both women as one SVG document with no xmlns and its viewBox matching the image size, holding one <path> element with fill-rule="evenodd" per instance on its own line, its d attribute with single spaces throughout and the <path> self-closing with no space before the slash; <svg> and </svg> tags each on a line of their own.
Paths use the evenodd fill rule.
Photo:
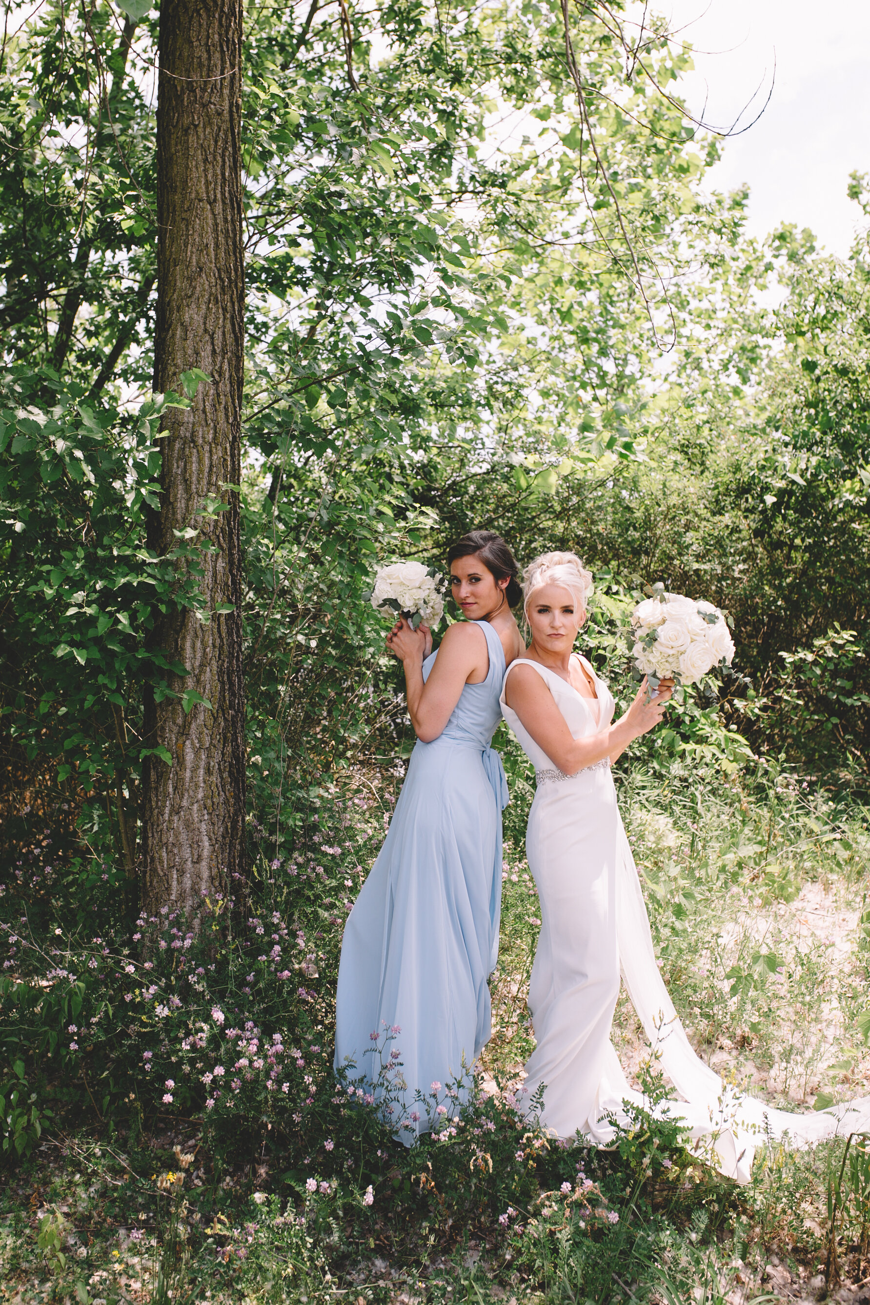
<svg viewBox="0 0 870 1305">
<path fill-rule="evenodd" d="M 31 20 L 12 7 L 9 21 L 7 782 L 83 804 L 132 868 L 141 694 L 159 685 L 149 607 L 196 602 L 160 590 L 177 556 L 141 551 L 159 403 L 146 435 L 125 415 L 151 365 L 155 25 L 136 4 Z M 862 244 L 848 265 L 788 230 L 760 248 L 742 235 L 743 193 L 704 196 L 717 145 L 667 93 L 687 56 L 663 27 L 627 67 L 609 10 L 578 20 L 579 103 L 562 17 L 537 5 L 462 9 L 449 26 L 383 5 L 352 16 L 350 47 L 316 8 L 293 23 L 252 12 L 245 51 L 254 835 L 282 846 L 312 775 L 394 745 L 397 677 L 361 600 L 372 565 L 438 562 L 480 523 L 520 559 L 571 547 L 591 562 L 623 600 L 600 611 L 617 679 L 633 591 L 664 577 L 725 606 L 753 685 L 747 703 L 734 683 L 725 723 L 757 752 L 860 778 Z M 776 309 L 759 307 L 771 284 Z M 727 765 L 747 754 L 704 719 L 682 713 L 672 754 L 713 735 Z"/>
</svg>

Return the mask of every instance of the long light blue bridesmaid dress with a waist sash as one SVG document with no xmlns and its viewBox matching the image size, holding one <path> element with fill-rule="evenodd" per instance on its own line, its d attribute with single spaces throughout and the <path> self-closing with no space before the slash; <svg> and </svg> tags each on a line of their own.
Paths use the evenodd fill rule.
<svg viewBox="0 0 870 1305">
<path fill-rule="evenodd" d="M 415 1090 L 428 1095 L 433 1082 L 446 1088 L 463 1077 L 490 1034 L 507 782 L 489 743 L 506 667 L 492 625 L 475 624 L 487 637 L 487 679 L 466 684 L 438 739 L 417 740 L 383 847 L 347 919 L 338 971 L 335 1067 L 348 1065 L 351 1081 L 370 1084 L 380 1070 L 372 1034 L 385 1060 L 399 1053 L 406 1086 L 390 1121 L 408 1146 L 432 1124 Z M 437 655 L 423 663 L 424 680 Z M 400 1032 L 385 1041 L 395 1026 Z"/>
</svg>

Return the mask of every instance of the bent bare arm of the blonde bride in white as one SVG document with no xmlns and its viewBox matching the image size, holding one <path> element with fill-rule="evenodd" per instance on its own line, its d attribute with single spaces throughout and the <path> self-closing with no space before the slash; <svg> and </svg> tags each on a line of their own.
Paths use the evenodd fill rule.
<svg viewBox="0 0 870 1305">
<path fill-rule="evenodd" d="M 626 714 L 607 729 L 587 735 L 586 739 L 571 735 L 553 694 L 533 667 L 520 664 L 511 671 L 505 698 L 553 765 L 565 775 L 575 775 L 578 770 L 586 770 L 605 757 L 616 761 L 630 743 L 653 729 L 664 715 L 670 689 L 661 688 L 648 698 L 644 680 Z"/>
</svg>

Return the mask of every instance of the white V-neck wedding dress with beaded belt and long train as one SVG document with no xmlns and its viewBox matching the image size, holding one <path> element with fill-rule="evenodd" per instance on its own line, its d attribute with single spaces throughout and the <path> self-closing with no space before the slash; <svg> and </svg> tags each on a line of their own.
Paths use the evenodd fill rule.
<svg viewBox="0 0 870 1305">
<path fill-rule="evenodd" d="M 648 1108 L 629 1087 L 610 1043 L 621 975 L 659 1065 L 681 1098 L 661 1103 L 656 1113 L 682 1117 L 694 1150 L 723 1173 L 747 1182 L 755 1147 L 766 1138 L 788 1134 L 792 1144 L 806 1146 L 836 1133 L 870 1130 L 870 1098 L 809 1114 L 772 1109 L 724 1084 L 691 1049 L 659 974 L 608 760 L 563 775 L 505 701 L 514 667 L 533 666 L 571 735 L 599 733 L 613 718 L 613 698 L 590 663 L 579 660 L 593 677 L 596 699 L 524 658 L 507 668 L 501 694 L 505 720 L 537 778 L 526 834 L 541 906 L 528 992 L 537 1045 L 524 1088 L 533 1095 L 544 1087 L 541 1122 L 560 1138 L 579 1131 L 607 1144 L 613 1137 L 607 1116 L 627 1122 L 623 1100 Z"/>
</svg>

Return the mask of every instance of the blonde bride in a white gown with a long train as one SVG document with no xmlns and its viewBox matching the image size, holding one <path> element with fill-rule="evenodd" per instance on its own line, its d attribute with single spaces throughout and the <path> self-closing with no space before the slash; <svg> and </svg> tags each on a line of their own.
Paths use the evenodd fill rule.
<svg viewBox="0 0 870 1305">
<path fill-rule="evenodd" d="M 545 553 L 526 569 L 531 629 L 507 672 L 502 713 L 535 765 L 537 790 L 526 850 L 541 904 L 528 992 L 536 1048 L 526 1091 L 543 1088 L 541 1122 L 607 1144 L 623 1103 L 650 1107 L 629 1087 L 610 1043 L 622 977 L 660 1067 L 682 1100 L 656 1113 L 681 1117 L 695 1150 L 729 1177 L 749 1181 L 755 1147 L 788 1134 L 809 1144 L 870 1129 L 870 1099 L 793 1114 L 741 1096 L 695 1056 L 661 980 L 650 921 L 610 776 L 610 762 L 661 720 L 672 681 L 646 683 L 625 715 L 586 660 L 573 652 L 592 577 L 574 553 Z M 609 1118 L 608 1118 L 609 1117 Z"/>
</svg>

